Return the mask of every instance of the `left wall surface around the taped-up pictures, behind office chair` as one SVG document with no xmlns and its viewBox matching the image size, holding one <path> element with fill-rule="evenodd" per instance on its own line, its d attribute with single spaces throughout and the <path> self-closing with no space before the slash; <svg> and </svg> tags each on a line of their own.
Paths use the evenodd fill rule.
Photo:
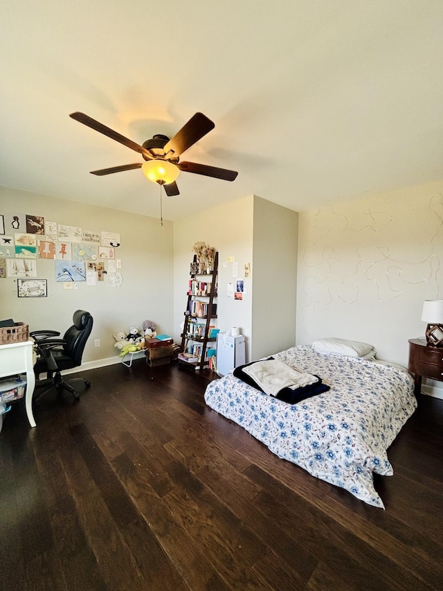
<svg viewBox="0 0 443 591">
<path fill-rule="evenodd" d="M 124 198 L 124 197 L 122 197 Z M 93 231 L 120 233 L 121 246 L 116 256 L 122 261 L 123 284 L 107 287 L 106 281 L 96 286 L 80 283 L 80 290 L 64 290 L 55 281 L 52 260 L 37 260 L 39 279 L 48 279 L 48 297 L 18 298 L 17 281 L 0 279 L 0 318 L 12 317 L 26 322 L 30 330 L 53 328 L 64 330 L 72 324 L 75 310 L 91 312 L 93 333 L 83 360 L 93 361 L 116 355 L 116 330 L 141 328 L 143 321 L 156 322 L 163 333 L 172 333 L 173 325 L 173 235 L 172 223 L 77 202 L 54 199 L 0 187 L 0 213 L 19 212 L 42 215 L 60 224 L 80 226 Z M 100 339 L 100 348 L 93 347 Z"/>
</svg>

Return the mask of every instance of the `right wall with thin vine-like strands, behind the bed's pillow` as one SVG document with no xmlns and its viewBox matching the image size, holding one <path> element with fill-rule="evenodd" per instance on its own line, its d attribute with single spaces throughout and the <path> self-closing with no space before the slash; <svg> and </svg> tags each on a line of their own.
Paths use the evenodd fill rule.
<svg viewBox="0 0 443 591">
<path fill-rule="evenodd" d="M 443 182 L 300 213 L 297 341 L 341 337 L 408 364 L 443 298 Z"/>
</svg>

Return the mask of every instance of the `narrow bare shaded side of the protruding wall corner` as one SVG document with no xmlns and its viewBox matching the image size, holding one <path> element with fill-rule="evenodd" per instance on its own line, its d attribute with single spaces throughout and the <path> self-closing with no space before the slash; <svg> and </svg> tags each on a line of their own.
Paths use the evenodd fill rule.
<svg viewBox="0 0 443 591">
<path fill-rule="evenodd" d="M 296 344 L 298 213 L 254 197 L 252 359 Z"/>
</svg>

